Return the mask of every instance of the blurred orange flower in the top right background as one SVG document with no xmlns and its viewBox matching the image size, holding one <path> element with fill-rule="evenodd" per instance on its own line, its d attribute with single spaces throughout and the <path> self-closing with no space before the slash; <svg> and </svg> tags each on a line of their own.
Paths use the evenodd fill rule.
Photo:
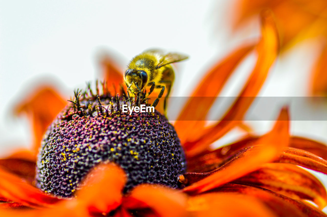
<svg viewBox="0 0 327 217">
<path fill-rule="evenodd" d="M 235 4 L 238 12 L 234 26 L 240 27 L 262 9 L 274 12 L 280 32 L 281 49 L 297 45 L 304 39 L 315 39 L 319 43 L 318 59 L 312 69 L 311 92 L 326 96 L 327 75 L 327 2 L 320 0 L 250 1 L 239 0 Z"/>
</svg>

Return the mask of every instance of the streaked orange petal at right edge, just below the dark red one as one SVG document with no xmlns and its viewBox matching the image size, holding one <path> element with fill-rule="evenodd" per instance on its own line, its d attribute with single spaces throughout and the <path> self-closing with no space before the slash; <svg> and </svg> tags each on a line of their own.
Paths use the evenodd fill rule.
<svg viewBox="0 0 327 217">
<path fill-rule="evenodd" d="M 327 161 L 307 151 L 297 148 L 284 148 L 278 163 L 292 163 L 327 174 Z"/>
</svg>

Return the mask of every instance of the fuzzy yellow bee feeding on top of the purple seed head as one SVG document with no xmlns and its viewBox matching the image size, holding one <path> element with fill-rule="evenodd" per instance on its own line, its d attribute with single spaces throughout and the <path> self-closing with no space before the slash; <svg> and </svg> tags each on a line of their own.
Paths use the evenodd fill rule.
<svg viewBox="0 0 327 217">
<path fill-rule="evenodd" d="M 166 89 L 167 92 L 163 104 L 164 111 L 166 111 L 167 97 L 175 80 L 175 73 L 170 64 L 187 58 L 188 56 L 184 54 L 164 54 L 161 50 L 146 50 L 135 56 L 129 62 L 124 74 L 124 81 L 128 87 L 128 97 L 129 91 L 135 95 L 150 87 L 148 93 L 150 95 L 154 88 L 161 88 L 158 98 L 152 104 L 155 107 Z"/>
</svg>

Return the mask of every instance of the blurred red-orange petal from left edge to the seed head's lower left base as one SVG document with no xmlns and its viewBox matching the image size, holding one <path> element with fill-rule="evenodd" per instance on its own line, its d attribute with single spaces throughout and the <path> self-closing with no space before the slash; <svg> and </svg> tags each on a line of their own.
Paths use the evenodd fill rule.
<svg viewBox="0 0 327 217">
<path fill-rule="evenodd" d="M 60 199 L 43 193 L 23 179 L 0 169 L 0 195 L 24 206 L 50 206 Z"/>
</svg>

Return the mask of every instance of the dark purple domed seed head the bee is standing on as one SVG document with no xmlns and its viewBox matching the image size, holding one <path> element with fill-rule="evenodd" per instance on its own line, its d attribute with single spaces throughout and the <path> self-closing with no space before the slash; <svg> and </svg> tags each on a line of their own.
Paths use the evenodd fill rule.
<svg viewBox="0 0 327 217">
<path fill-rule="evenodd" d="M 102 95 L 65 107 L 43 137 L 37 187 L 70 197 L 101 162 L 114 162 L 125 170 L 125 193 L 141 183 L 178 187 L 186 161 L 174 127 L 157 111 L 122 113 L 117 108 L 122 104 L 122 97 Z"/>
</svg>

